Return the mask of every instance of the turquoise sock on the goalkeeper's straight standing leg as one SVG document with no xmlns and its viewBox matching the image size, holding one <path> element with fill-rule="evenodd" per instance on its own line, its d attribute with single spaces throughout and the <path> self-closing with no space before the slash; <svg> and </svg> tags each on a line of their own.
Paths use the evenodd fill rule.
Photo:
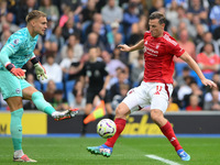
<svg viewBox="0 0 220 165">
<path fill-rule="evenodd" d="M 22 125 L 21 125 L 22 114 L 23 114 L 23 108 L 11 112 L 10 131 L 11 131 L 11 138 L 12 138 L 12 142 L 13 142 L 14 151 L 22 150 L 22 146 L 21 146 L 21 143 L 22 143 Z"/>
</svg>

